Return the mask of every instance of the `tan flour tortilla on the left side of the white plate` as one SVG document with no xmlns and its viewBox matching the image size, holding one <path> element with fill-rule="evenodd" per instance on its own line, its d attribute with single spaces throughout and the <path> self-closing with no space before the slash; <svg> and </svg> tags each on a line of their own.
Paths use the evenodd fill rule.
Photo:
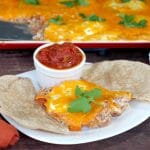
<svg viewBox="0 0 150 150">
<path fill-rule="evenodd" d="M 30 129 L 68 133 L 68 128 L 49 116 L 35 101 L 36 91 L 28 78 L 0 77 L 0 113 Z"/>
</svg>

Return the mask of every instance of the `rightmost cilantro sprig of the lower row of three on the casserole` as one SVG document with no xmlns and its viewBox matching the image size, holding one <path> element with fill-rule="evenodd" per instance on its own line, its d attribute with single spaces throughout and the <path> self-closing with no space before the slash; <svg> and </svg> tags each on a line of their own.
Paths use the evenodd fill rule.
<svg viewBox="0 0 150 150">
<path fill-rule="evenodd" d="M 119 24 L 128 28 L 143 28 L 147 25 L 146 19 L 142 19 L 139 22 L 136 22 L 134 15 L 120 14 L 119 17 L 122 19 Z"/>
</svg>

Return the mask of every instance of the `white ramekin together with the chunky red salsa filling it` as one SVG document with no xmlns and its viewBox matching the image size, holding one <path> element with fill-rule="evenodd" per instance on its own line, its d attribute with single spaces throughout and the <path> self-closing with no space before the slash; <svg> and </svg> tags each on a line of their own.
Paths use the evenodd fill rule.
<svg viewBox="0 0 150 150">
<path fill-rule="evenodd" d="M 86 55 L 72 43 L 45 44 L 35 50 L 33 60 L 38 82 L 46 88 L 80 79 Z"/>
</svg>

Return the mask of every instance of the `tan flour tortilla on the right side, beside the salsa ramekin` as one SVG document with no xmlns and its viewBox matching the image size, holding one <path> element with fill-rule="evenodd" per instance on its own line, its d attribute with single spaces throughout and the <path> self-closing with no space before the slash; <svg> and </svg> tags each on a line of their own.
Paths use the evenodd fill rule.
<svg viewBox="0 0 150 150">
<path fill-rule="evenodd" d="M 150 66 L 141 62 L 115 60 L 90 65 L 82 78 L 110 90 L 124 90 L 137 100 L 150 101 Z"/>
</svg>

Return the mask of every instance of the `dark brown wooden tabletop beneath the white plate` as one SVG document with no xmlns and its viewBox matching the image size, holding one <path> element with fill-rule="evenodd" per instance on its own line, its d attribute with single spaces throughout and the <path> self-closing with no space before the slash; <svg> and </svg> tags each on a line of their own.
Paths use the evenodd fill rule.
<svg viewBox="0 0 150 150">
<path fill-rule="evenodd" d="M 87 61 L 128 59 L 149 63 L 148 51 L 148 49 L 111 49 L 105 55 L 87 52 Z M 33 50 L 0 51 L 0 75 L 17 74 L 34 69 L 32 54 Z M 15 146 L 8 148 L 9 150 L 150 150 L 150 119 L 121 135 L 80 145 L 47 144 L 21 133 L 20 135 L 20 141 Z"/>
</svg>

